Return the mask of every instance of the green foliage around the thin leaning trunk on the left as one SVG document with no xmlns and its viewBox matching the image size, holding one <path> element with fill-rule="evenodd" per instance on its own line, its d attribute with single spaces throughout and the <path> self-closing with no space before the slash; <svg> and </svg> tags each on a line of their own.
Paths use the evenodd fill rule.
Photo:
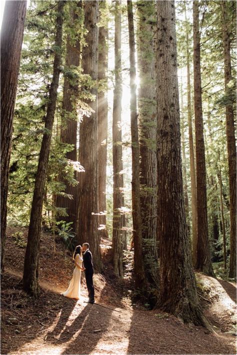
<svg viewBox="0 0 237 355">
<path fill-rule="evenodd" d="M 90 88 L 97 85 L 97 82 L 91 80 L 89 75 L 84 75 L 81 67 L 68 67 L 62 63 L 52 132 L 44 128 L 53 55 L 58 50 L 54 45 L 56 8 L 57 1 L 31 1 L 26 12 L 10 159 L 8 222 L 11 224 L 28 225 L 38 156 L 44 132 L 52 134 L 42 211 L 44 226 L 52 227 L 59 213 L 62 216 L 66 215 L 63 208 L 58 209 L 54 206 L 56 195 L 71 198 L 70 195 L 64 193 L 65 185 L 58 180 L 59 175 L 62 174 L 63 179 L 74 186 L 78 183 L 74 178 L 74 170 L 83 170 L 79 162 L 73 163 L 66 158 L 66 153 L 71 151 L 73 146 L 61 143 L 59 138 L 60 126 L 63 128 L 68 119 L 80 120 L 83 115 L 91 113 L 85 100 L 94 99 Z M 73 11 L 78 16 L 72 23 L 71 13 Z M 64 11 L 63 57 L 65 57 L 68 36 L 71 45 L 78 37 L 81 45 L 85 45 L 85 32 L 83 9 L 79 1 L 67 1 Z M 76 114 L 65 112 L 61 108 L 64 77 L 71 85 L 80 83 L 76 93 L 77 99 L 74 100 L 71 96 L 72 101 L 75 102 Z"/>
</svg>

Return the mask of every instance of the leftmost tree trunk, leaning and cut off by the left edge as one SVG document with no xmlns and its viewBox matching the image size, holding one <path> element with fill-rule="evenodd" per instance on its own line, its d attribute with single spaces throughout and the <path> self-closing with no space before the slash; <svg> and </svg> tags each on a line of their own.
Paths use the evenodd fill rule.
<svg viewBox="0 0 237 355">
<path fill-rule="evenodd" d="M 13 114 L 27 1 L 6 1 L 1 25 L 1 271 L 4 270 L 7 192 Z"/>
</svg>

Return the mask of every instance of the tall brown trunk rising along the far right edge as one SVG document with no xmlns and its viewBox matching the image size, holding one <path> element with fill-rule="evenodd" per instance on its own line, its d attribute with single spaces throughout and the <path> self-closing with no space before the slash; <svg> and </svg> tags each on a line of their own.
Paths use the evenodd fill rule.
<svg viewBox="0 0 237 355">
<path fill-rule="evenodd" d="M 222 39 L 224 53 L 224 89 L 227 96 L 225 105 L 226 115 L 226 137 L 228 150 L 228 169 L 229 169 L 229 199 L 230 199 L 230 261 L 229 277 L 236 277 L 236 147 L 234 137 L 234 113 L 233 96 L 229 81 L 231 76 L 231 56 L 230 56 L 230 33 L 228 28 L 227 6 L 225 1 L 220 2 L 222 10 Z"/>
</svg>

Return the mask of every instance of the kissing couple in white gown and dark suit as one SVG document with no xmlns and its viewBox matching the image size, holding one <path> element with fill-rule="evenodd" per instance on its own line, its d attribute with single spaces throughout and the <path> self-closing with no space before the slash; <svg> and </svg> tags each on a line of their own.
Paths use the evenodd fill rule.
<svg viewBox="0 0 237 355">
<path fill-rule="evenodd" d="M 75 268 L 73 270 L 72 279 L 67 290 L 61 293 L 65 297 L 80 298 L 80 277 L 81 271 L 85 273 L 85 281 L 88 290 L 87 303 L 94 303 L 94 286 L 93 286 L 93 263 L 92 254 L 89 250 L 89 244 L 83 243 L 82 246 L 77 245 L 73 253 Z"/>
</svg>

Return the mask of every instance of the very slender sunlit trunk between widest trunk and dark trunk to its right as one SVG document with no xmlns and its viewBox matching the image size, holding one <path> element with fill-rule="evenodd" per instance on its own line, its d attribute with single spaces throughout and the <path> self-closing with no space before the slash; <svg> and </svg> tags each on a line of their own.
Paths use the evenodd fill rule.
<svg viewBox="0 0 237 355">
<path fill-rule="evenodd" d="M 186 18 L 186 7 L 184 2 L 184 14 Z M 189 159 L 190 159 L 190 180 L 191 180 L 191 220 L 192 220 L 192 264 L 196 264 L 196 246 L 197 246 L 197 205 L 196 205 L 196 172 L 192 131 L 192 114 L 191 114 L 191 85 L 190 85 L 190 53 L 189 53 L 189 36 L 188 29 L 186 31 L 186 66 L 187 66 L 187 119 L 188 119 L 188 140 L 189 140 Z"/>
</svg>

